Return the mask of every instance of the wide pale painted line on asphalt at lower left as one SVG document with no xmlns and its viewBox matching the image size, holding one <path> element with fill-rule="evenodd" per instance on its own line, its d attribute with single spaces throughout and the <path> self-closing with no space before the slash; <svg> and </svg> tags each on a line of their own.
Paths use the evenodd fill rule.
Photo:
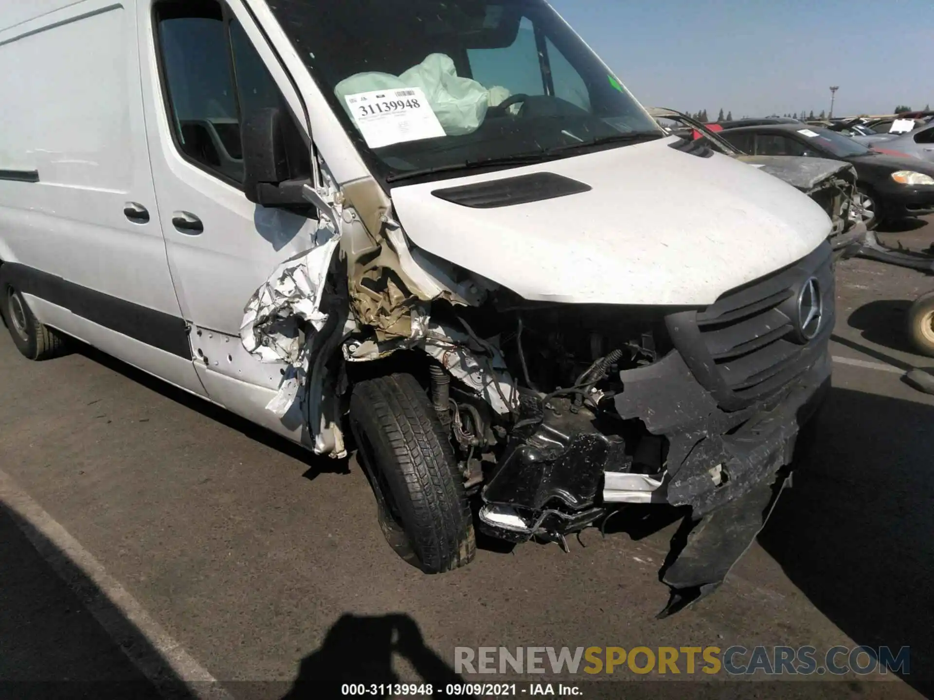
<svg viewBox="0 0 934 700">
<path fill-rule="evenodd" d="M 233 696 L 220 687 L 218 680 L 3 469 L 0 469 L 0 501 L 20 516 L 23 522 L 17 525 L 26 539 L 78 594 L 94 619 L 161 694 L 177 697 L 181 680 L 196 697 L 232 700 Z M 89 586 L 88 580 L 94 585 Z M 140 635 L 149 644 L 140 644 Z"/>
</svg>

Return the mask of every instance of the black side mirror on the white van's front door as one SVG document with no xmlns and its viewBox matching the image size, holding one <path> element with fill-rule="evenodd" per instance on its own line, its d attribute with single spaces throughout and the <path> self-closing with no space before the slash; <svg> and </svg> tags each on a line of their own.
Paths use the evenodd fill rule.
<svg viewBox="0 0 934 700">
<path fill-rule="evenodd" d="M 306 206 L 302 186 L 308 177 L 291 178 L 285 129 L 288 117 L 276 107 L 258 109 L 244 119 L 244 181 L 247 199 L 262 206 Z"/>
</svg>

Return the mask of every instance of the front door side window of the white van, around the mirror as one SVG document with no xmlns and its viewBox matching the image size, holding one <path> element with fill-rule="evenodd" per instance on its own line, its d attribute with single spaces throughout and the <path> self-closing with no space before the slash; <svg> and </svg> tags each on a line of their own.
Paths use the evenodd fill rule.
<svg viewBox="0 0 934 700">
<path fill-rule="evenodd" d="M 257 109 L 288 105 L 243 27 L 214 0 L 156 6 L 163 90 L 173 137 L 186 160 L 239 186 L 244 180 L 240 128 Z M 292 119 L 292 175 L 310 175 L 308 148 Z M 291 153 L 290 153 L 291 155 Z"/>
</svg>

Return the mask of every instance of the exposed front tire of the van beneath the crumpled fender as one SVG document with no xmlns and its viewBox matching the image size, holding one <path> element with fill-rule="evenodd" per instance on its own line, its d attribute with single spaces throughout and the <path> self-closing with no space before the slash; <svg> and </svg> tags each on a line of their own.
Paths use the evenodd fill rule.
<svg viewBox="0 0 934 700">
<path fill-rule="evenodd" d="M 463 475 L 415 377 L 392 374 L 356 385 L 350 426 L 389 544 L 425 573 L 468 564 L 476 545 Z"/>
</svg>

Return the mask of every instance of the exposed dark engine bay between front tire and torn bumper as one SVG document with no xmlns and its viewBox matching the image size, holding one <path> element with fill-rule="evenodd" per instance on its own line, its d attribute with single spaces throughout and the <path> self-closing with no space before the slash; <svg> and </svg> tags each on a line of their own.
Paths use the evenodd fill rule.
<svg viewBox="0 0 934 700">
<path fill-rule="evenodd" d="M 518 400 L 501 415 L 432 371 L 433 404 L 452 427 L 467 483 L 483 487 L 491 534 L 560 541 L 603 514 L 605 469 L 660 479 L 664 441 L 623 420 L 613 401 L 621 371 L 671 350 L 658 311 L 530 303 L 509 292 L 462 312 L 438 306 L 467 329 L 474 355 L 491 367 L 501 355 L 516 378 Z"/>
</svg>

